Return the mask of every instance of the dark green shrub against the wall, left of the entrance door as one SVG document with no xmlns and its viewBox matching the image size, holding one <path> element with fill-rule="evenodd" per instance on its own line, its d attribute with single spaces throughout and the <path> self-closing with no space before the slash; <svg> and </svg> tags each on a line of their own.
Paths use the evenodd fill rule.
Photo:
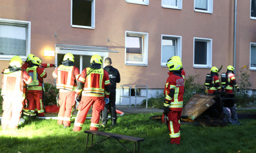
<svg viewBox="0 0 256 153">
<path fill-rule="evenodd" d="M 45 83 L 45 101 L 44 105 L 49 106 L 49 105 L 57 105 L 56 102 L 56 96 L 59 93 L 59 90 L 53 86 L 52 84 Z"/>
</svg>

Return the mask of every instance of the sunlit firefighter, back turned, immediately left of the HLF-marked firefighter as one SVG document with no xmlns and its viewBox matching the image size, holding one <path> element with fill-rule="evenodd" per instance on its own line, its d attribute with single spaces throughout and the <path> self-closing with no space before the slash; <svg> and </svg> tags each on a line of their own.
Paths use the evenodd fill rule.
<svg viewBox="0 0 256 153">
<path fill-rule="evenodd" d="M 64 56 L 62 65 L 52 73 L 56 79 L 56 88 L 59 89 L 59 113 L 57 123 L 63 127 L 70 127 L 75 105 L 76 81 L 80 75 L 79 69 L 74 66 L 74 56 L 68 53 Z"/>
</svg>

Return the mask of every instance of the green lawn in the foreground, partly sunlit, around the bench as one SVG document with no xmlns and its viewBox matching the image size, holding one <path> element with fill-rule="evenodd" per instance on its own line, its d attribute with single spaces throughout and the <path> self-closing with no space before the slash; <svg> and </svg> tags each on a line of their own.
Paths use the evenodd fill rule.
<svg viewBox="0 0 256 153">
<path fill-rule="evenodd" d="M 118 117 L 117 125 L 110 123 L 100 131 L 144 138 L 140 152 L 256 152 L 256 119 L 241 119 L 242 125 L 202 127 L 181 125 L 180 145 L 171 145 L 165 124 L 148 119 L 159 113 L 124 114 Z M 56 120 L 26 120 L 18 130 L 0 130 L 0 152 L 127 152 L 115 139 L 106 140 L 97 146 L 85 149 L 90 119 L 80 132 L 71 127 L 63 129 Z M 94 136 L 94 142 L 103 140 Z M 122 141 L 130 150 L 133 142 Z M 91 144 L 91 139 L 89 141 Z"/>
</svg>

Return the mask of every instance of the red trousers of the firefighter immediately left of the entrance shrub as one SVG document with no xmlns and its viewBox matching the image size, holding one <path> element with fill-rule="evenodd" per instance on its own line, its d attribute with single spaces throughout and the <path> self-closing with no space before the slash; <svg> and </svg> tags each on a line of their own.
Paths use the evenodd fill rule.
<svg viewBox="0 0 256 153">
<path fill-rule="evenodd" d="M 44 117 L 44 104 L 42 103 L 42 92 L 28 92 L 29 110 L 35 112 L 37 108 L 37 116 Z"/>
</svg>

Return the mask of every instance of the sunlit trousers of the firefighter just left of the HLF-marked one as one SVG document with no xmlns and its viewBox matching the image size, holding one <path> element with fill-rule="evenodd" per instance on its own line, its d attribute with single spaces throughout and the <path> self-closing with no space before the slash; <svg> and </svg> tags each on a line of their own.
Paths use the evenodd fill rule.
<svg viewBox="0 0 256 153">
<path fill-rule="evenodd" d="M 59 92 L 59 113 L 57 123 L 70 126 L 75 105 L 75 91 Z"/>
</svg>

